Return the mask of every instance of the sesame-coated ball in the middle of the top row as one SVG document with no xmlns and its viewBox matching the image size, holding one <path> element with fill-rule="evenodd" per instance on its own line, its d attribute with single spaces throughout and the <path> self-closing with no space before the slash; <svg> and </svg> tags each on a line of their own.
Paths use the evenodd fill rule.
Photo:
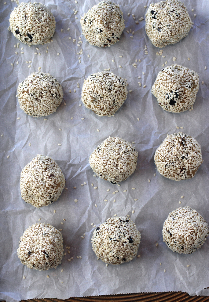
<svg viewBox="0 0 209 302">
<path fill-rule="evenodd" d="M 107 47 L 120 40 L 125 28 L 118 4 L 104 0 L 94 5 L 80 20 L 86 40 L 98 47 Z"/>
</svg>

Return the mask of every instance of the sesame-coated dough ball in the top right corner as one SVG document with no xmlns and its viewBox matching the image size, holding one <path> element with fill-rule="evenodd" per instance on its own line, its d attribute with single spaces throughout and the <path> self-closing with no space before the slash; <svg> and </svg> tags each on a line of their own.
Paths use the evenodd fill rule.
<svg viewBox="0 0 209 302">
<path fill-rule="evenodd" d="M 175 44 L 188 35 L 192 26 L 186 6 L 179 0 L 150 4 L 145 18 L 145 30 L 156 47 Z"/>
</svg>

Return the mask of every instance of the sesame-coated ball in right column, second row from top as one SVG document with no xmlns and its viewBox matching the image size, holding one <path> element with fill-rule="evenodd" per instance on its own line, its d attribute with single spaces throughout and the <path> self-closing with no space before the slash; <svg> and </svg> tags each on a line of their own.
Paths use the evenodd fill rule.
<svg viewBox="0 0 209 302">
<path fill-rule="evenodd" d="M 152 86 L 152 94 L 163 110 L 180 113 L 192 107 L 198 89 L 198 74 L 175 64 L 159 72 Z"/>
</svg>

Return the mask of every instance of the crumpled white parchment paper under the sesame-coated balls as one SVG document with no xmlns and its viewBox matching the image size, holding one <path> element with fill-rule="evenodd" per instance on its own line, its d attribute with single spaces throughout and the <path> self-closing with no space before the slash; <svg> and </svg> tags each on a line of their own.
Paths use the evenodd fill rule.
<svg viewBox="0 0 209 302">
<path fill-rule="evenodd" d="M 209 290 L 204 289 L 209 286 L 209 239 L 201 249 L 190 255 L 172 252 L 162 240 L 163 222 L 169 212 L 180 206 L 180 200 L 181 206 L 196 209 L 209 223 L 209 2 L 185 0 L 194 27 L 179 43 L 163 49 L 165 58 L 156 55 L 160 49 L 155 48 L 146 36 L 145 20 L 135 23 L 140 17 L 145 17 L 147 9 L 144 6 L 149 6 L 152 1 L 119 0 L 117 3 L 123 11 L 126 25 L 121 40 L 111 47 L 97 48 L 82 36 L 79 20 L 80 15 L 99 1 L 78 0 L 76 4 L 73 0 L 42 0 L 55 16 L 57 24 L 53 42 L 37 46 L 39 50 L 36 50 L 36 46 L 28 47 L 22 43 L 19 48 L 14 48 L 18 40 L 7 28 L 9 15 L 16 3 L 10 0 L 6 2 L 4 4 L 2 0 L 0 3 L 0 134 L 3 134 L 0 136 L 0 298 L 13 302 L 31 298 L 66 299 L 71 296 L 160 291 L 183 291 L 192 296 L 209 295 Z M 78 10 L 76 15 L 74 9 Z M 67 30 L 68 27 L 70 30 Z M 133 38 L 130 37 L 132 34 L 126 32 L 127 29 L 134 31 Z M 72 38 L 68 39 L 69 36 Z M 83 42 L 80 46 L 79 37 Z M 74 38 L 75 42 L 72 41 Z M 145 55 L 145 45 L 148 55 Z M 22 47 L 24 54 L 20 54 Z M 83 54 L 78 55 L 81 48 Z M 177 58 L 176 62 L 172 61 L 173 57 Z M 137 68 L 134 68 L 132 64 L 136 59 L 141 59 L 141 63 L 138 61 Z M 25 63 L 29 60 L 32 63 Z M 177 63 L 187 66 L 199 74 L 200 89 L 192 111 L 181 114 L 165 112 L 151 94 L 151 87 L 165 61 L 167 65 Z M 208 66 L 206 70 L 205 66 Z M 64 90 L 62 104 L 56 113 L 46 117 L 47 120 L 26 115 L 15 97 L 19 82 L 38 71 L 38 67 L 57 78 Z M 114 117 L 97 117 L 80 101 L 83 80 L 105 68 L 127 78 L 128 90 L 132 90 Z M 138 82 L 141 82 L 141 87 Z M 143 88 L 143 85 L 146 87 Z M 82 117 L 85 119 L 81 120 Z M 176 126 L 183 127 L 182 131 L 200 143 L 204 159 L 196 176 L 181 182 L 161 176 L 155 169 L 153 159 L 156 148 L 167 133 L 181 130 Z M 137 170 L 120 186 L 94 177 L 89 166 L 90 154 L 108 136 L 135 142 L 139 152 Z M 37 154 L 49 155 L 57 161 L 68 188 L 54 204 L 40 209 L 22 200 L 19 187 L 21 169 Z M 148 179 L 151 181 L 148 182 Z M 76 189 L 73 189 L 74 186 Z M 117 190 L 118 193 L 112 194 Z M 181 196 L 184 198 L 181 199 Z M 74 199 L 78 199 L 78 202 L 75 203 Z M 108 201 L 105 202 L 105 199 Z M 116 202 L 113 202 L 114 199 Z M 135 212 L 132 214 L 133 210 Z M 141 232 L 138 250 L 141 257 L 123 265 L 107 267 L 101 260 L 97 261 L 92 250 L 90 241 L 94 227 L 91 223 L 98 226 L 115 214 L 128 214 L 137 225 Z M 67 252 L 56 270 L 28 269 L 20 263 L 16 254 L 20 236 L 28 225 L 37 223 L 39 218 L 41 222 L 62 228 L 64 251 L 67 252 L 66 247 L 70 246 L 70 254 Z M 63 219 L 66 221 L 61 225 Z M 84 233 L 85 238 L 82 239 Z M 74 258 L 68 262 L 67 259 L 71 257 Z M 61 269 L 64 270 L 62 273 Z"/>
</svg>

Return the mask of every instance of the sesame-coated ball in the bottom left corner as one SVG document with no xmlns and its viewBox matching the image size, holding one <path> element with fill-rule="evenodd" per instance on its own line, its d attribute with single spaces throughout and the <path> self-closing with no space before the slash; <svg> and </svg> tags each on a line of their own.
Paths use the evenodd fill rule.
<svg viewBox="0 0 209 302">
<path fill-rule="evenodd" d="M 56 268 L 63 257 L 62 234 L 50 224 L 36 223 L 20 237 L 17 256 L 34 270 Z"/>
</svg>

